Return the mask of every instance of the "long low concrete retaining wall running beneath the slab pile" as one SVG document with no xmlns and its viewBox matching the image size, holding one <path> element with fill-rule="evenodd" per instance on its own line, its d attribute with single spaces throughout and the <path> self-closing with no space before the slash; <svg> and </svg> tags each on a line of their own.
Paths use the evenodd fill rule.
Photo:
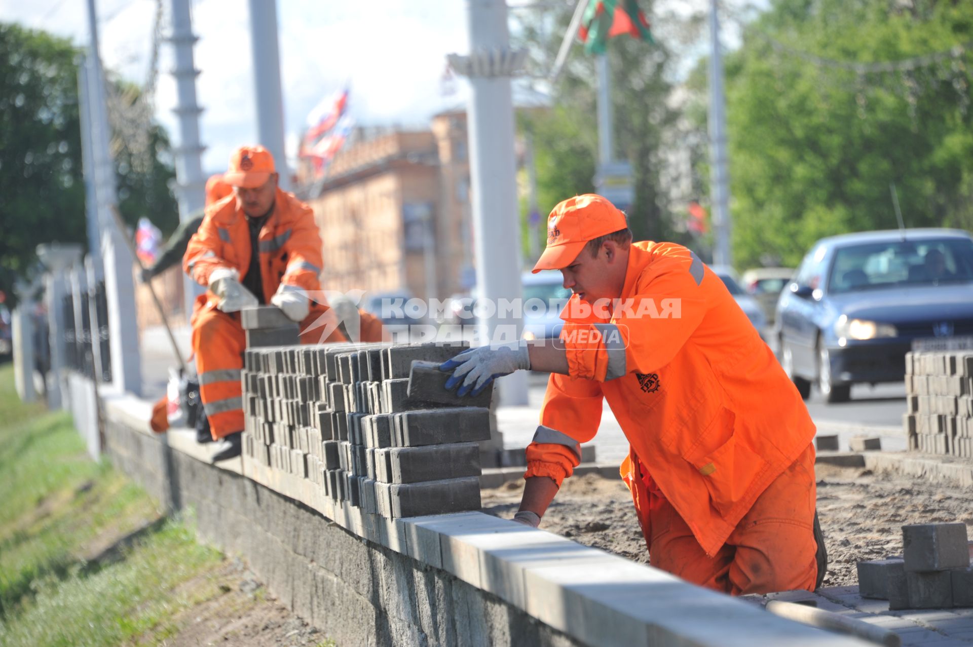
<svg viewBox="0 0 973 647">
<path fill-rule="evenodd" d="M 146 402 L 104 409 L 113 462 L 342 647 L 867 644 L 479 512 L 365 516 L 252 459 L 209 465 L 193 432 L 149 432 Z"/>
</svg>

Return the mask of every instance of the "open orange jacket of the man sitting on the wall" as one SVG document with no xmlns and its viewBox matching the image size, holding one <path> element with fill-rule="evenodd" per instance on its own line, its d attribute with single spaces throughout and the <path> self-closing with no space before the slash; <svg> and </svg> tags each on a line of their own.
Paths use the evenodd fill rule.
<svg viewBox="0 0 973 647">
<path fill-rule="evenodd" d="M 327 306 L 321 295 L 321 236 L 314 213 L 293 194 L 277 189 L 273 212 L 258 237 L 261 283 L 264 303 L 281 284 L 294 285 L 310 292 L 311 311 Z M 234 268 L 240 281 L 250 268 L 250 230 L 243 210 L 234 195 L 214 202 L 183 257 L 183 270 L 200 285 L 209 284 L 209 274 L 217 268 Z M 314 301 L 318 303 L 315 305 Z M 216 307 L 218 299 L 210 292 L 200 295 L 195 311 Z"/>
</svg>

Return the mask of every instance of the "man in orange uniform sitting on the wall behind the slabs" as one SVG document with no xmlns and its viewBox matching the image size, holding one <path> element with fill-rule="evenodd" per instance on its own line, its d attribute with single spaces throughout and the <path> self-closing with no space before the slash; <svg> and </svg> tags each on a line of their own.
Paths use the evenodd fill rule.
<svg viewBox="0 0 973 647">
<path fill-rule="evenodd" d="M 327 304 L 308 298 L 320 295 L 321 238 L 314 214 L 277 187 L 270 153 L 261 146 L 237 149 L 223 181 L 233 195 L 206 209 L 183 258 L 183 270 L 209 288 L 196 300 L 192 325 L 203 411 L 213 438 L 226 441 L 214 461 L 241 450 L 246 341 L 239 310 L 277 306 L 301 324 L 302 341 L 318 341 L 312 338 L 315 331 L 320 335 L 322 317 L 334 317 Z"/>
</svg>

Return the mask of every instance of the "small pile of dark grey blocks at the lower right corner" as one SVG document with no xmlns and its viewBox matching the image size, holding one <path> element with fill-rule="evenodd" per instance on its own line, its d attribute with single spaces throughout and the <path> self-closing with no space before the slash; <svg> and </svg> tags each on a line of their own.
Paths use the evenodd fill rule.
<svg viewBox="0 0 973 647">
<path fill-rule="evenodd" d="M 902 557 L 858 562 L 858 593 L 890 610 L 973 606 L 965 523 L 902 526 Z"/>
</svg>

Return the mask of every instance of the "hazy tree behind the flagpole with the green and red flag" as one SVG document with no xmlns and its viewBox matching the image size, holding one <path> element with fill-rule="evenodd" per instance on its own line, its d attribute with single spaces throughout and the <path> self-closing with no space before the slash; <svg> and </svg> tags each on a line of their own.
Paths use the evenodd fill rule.
<svg viewBox="0 0 973 647">
<path fill-rule="evenodd" d="M 653 3 L 640 2 L 646 16 Z M 547 74 L 573 7 L 518 14 L 515 44 L 527 47 L 532 67 Z M 629 222 L 636 240 L 672 236 L 669 207 L 661 187 L 662 133 L 675 113 L 668 107 L 672 60 L 665 40 L 649 45 L 628 37 L 608 44 L 611 102 L 615 126 L 615 154 L 631 162 L 635 199 Z M 541 213 L 560 200 L 594 191 L 597 160 L 595 58 L 575 45 L 558 82 L 551 89 L 554 107 L 543 116 L 522 120 L 534 137 L 537 185 Z"/>
</svg>

